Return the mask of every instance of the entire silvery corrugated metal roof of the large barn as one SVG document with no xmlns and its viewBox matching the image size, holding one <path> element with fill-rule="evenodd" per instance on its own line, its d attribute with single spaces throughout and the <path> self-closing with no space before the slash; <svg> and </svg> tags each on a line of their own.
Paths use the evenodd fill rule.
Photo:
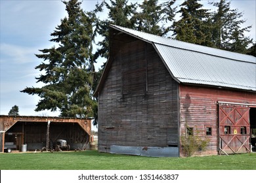
<svg viewBox="0 0 256 183">
<path fill-rule="evenodd" d="M 152 43 L 178 82 L 256 91 L 256 58 L 253 56 L 110 26 Z"/>
</svg>

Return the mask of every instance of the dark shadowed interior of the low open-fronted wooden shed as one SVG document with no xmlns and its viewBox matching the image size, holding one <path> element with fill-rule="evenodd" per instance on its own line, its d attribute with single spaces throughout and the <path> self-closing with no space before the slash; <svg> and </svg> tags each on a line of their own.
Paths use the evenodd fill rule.
<svg viewBox="0 0 256 183">
<path fill-rule="evenodd" d="M 70 144 L 70 149 L 85 149 L 88 147 L 89 134 L 75 122 L 52 122 L 49 127 L 49 148 L 57 139 L 64 139 Z M 41 150 L 47 142 L 47 122 L 17 122 L 5 133 L 5 143 L 16 145 L 21 150 L 22 144 L 27 144 L 27 150 Z"/>
</svg>

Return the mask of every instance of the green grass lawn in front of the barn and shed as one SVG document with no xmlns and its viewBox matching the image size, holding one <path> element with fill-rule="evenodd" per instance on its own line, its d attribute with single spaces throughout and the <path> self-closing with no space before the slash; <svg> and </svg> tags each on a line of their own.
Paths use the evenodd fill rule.
<svg viewBox="0 0 256 183">
<path fill-rule="evenodd" d="M 152 158 L 81 152 L 0 154 L 1 170 L 255 170 L 256 153 L 190 158 Z"/>
</svg>

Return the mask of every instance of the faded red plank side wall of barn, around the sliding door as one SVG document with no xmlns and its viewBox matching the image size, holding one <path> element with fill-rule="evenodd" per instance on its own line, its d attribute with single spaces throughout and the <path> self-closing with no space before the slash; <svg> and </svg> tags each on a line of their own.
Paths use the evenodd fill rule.
<svg viewBox="0 0 256 183">
<path fill-rule="evenodd" d="M 256 104 L 256 93 L 206 88 L 202 86 L 180 85 L 180 133 L 184 134 L 186 124 L 200 131 L 202 138 L 209 139 L 206 152 L 198 154 L 217 154 L 218 150 L 218 108 L 217 101 Z M 212 135 L 205 135 L 206 127 L 212 127 Z M 182 154 L 181 150 L 181 156 Z"/>
</svg>

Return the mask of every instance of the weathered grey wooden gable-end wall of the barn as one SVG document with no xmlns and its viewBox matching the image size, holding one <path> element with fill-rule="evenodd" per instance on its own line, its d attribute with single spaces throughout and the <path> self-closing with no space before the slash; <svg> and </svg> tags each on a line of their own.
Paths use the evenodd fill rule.
<svg viewBox="0 0 256 183">
<path fill-rule="evenodd" d="M 98 95 L 98 150 L 178 146 L 177 82 L 151 44 L 118 40 Z"/>
</svg>

